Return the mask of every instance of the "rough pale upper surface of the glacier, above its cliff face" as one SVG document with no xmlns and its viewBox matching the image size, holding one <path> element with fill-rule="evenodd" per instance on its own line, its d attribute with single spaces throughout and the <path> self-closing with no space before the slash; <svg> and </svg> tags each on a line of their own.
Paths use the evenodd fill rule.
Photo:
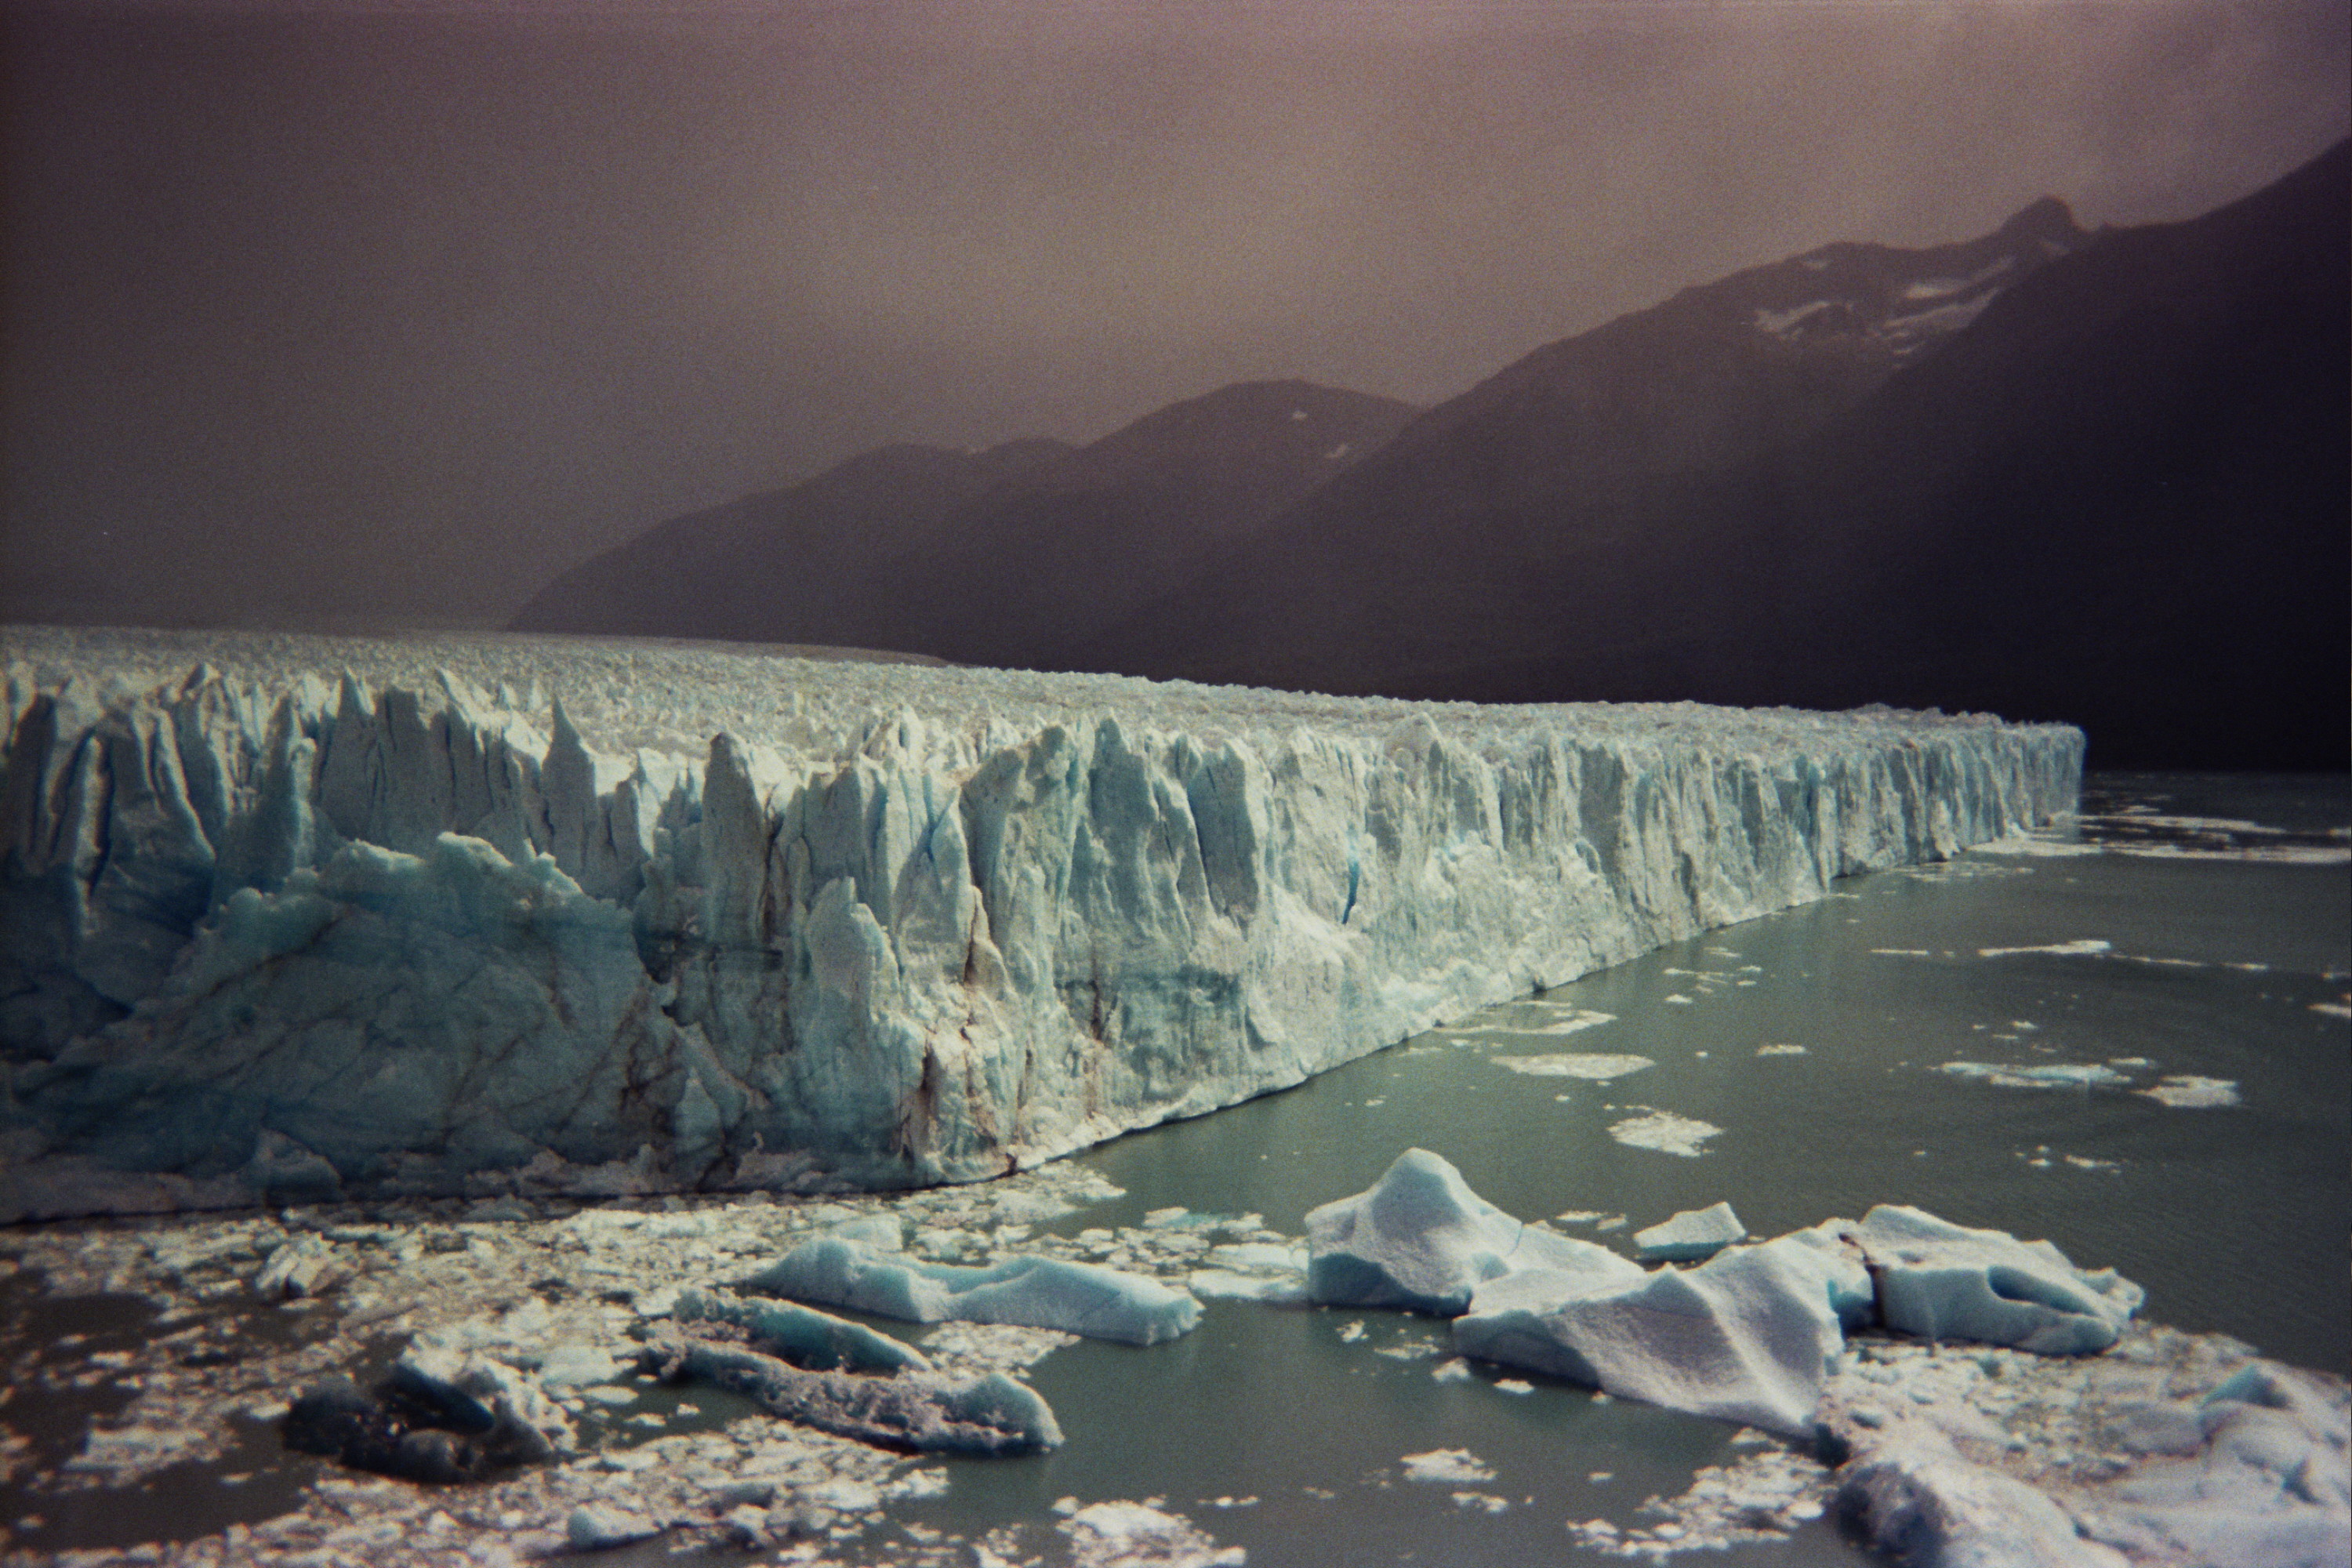
<svg viewBox="0 0 2352 1568">
<path fill-rule="evenodd" d="M 212 665 L 233 684 L 280 686 L 343 672 L 369 686 L 433 689 L 442 672 L 470 686 L 468 703 L 543 722 L 550 698 L 581 738 L 604 752 L 633 748 L 701 755 L 720 731 L 783 752 L 854 750 L 877 722 L 913 712 L 976 750 L 1049 724 L 1117 717 L 1136 729 L 1270 745 L 1301 726 L 1324 736 L 1383 738 L 1425 717 L 1456 743 L 1503 745 L 1531 729 L 1588 741 L 1693 745 L 1750 755 L 1884 745 L 1900 736 L 1994 729 L 1990 715 L 1860 708 L 1708 708 L 1700 703 L 1418 703 L 1341 698 L 1256 686 L 1197 686 L 1127 675 L 1056 675 L 896 663 L 889 656 L 729 642 L 652 642 L 517 632 L 407 632 L 336 637 L 247 630 L 75 625 L 0 628 L 0 665 L 21 686 L 75 682 L 99 701 L 132 701 Z M 21 701 L 21 698 L 19 698 Z M 2063 729 L 2063 726 L 2018 726 Z M 946 738 L 946 736 L 936 736 Z"/>
</svg>

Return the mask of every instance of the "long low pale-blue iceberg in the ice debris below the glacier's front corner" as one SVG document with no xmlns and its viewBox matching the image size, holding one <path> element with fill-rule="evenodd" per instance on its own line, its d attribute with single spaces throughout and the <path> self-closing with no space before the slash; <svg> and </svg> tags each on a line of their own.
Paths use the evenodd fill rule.
<svg viewBox="0 0 2352 1568">
<path fill-rule="evenodd" d="M 1200 1324 L 1200 1302 L 1183 1291 L 1094 1262 L 1007 1258 L 974 1269 L 875 1253 L 847 1237 L 804 1241 L 743 1284 L 908 1324 L 1023 1324 L 1127 1345 L 1160 1345 Z"/>
</svg>

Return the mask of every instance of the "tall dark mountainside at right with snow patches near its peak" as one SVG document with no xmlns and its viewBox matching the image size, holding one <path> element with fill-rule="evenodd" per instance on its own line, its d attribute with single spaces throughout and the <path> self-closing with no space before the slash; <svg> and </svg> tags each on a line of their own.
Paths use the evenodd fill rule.
<svg viewBox="0 0 2352 1568">
<path fill-rule="evenodd" d="M 1990 708 L 2084 724 L 2100 766 L 2340 769 L 2347 190 L 2338 146 L 2187 223 L 2082 240 L 2037 205 L 1976 270 L 1832 247 L 1693 289 L 1432 409 L 1082 658 Z"/>
</svg>

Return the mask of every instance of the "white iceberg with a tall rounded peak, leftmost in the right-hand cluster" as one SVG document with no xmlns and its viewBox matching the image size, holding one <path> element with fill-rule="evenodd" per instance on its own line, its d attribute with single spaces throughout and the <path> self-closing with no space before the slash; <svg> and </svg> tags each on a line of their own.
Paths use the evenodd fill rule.
<svg viewBox="0 0 2352 1568">
<path fill-rule="evenodd" d="M 1428 1150 L 1378 1182 L 1308 1213 L 1308 1300 L 1454 1316 L 1484 1281 L 1522 1269 L 1564 1279 L 1639 1276 L 1606 1246 L 1515 1220 Z"/>
</svg>

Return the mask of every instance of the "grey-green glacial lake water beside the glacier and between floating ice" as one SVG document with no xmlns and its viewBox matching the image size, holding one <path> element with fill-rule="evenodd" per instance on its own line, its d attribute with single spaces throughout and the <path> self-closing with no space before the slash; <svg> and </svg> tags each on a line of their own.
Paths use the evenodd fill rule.
<svg viewBox="0 0 2352 1568">
<path fill-rule="evenodd" d="M 1632 1232 L 1724 1199 L 1757 1237 L 1915 1204 L 2117 1267 L 2147 1288 L 2150 1319 L 2345 1373 L 2347 823 L 2345 778 L 2093 778 L 2079 835 L 1849 879 L 1818 905 L 1080 1154 L 1124 1197 L 1040 1229 L 1183 1208 L 1298 1237 L 1305 1211 L 1418 1145 L 1505 1211 L 1628 1251 Z M 1047 1354 L 1028 1380 L 1061 1450 L 948 1460 L 943 1495 L 889 1505 L 826 1561 L 891 1563 L 910 1537 L 1018 1523 L 1023 1559 L 1058 1563 L 1068 1500 L 1152 1500 L 1256 1568 L 1602 1561 L 1569 1521 L 1639 1526 L 1646 1497 L 1750 1453 L 1719 1422 L 1465 1368 L 1437 1319 L 1204 1307 L 1169 1345 Z M 696 1399 L 727 1418 L 724 1399 Z M 266 1432 L 162 1493 L 45 1502 L 42 1549 L 285 1509 L 325 1467 L 259 1453 Z M 1468 1450 L 1482 1474 L 1411 1479 L 1404 1455 L 1432 1450 Z M 219 1486 L 212 1469 L 230 1467 L 252 1481 Z M 771 1556 L 644 1544 L 581 1561 Z M 1689 1561 L 1877 1559 L 1818 1519 Z"/>
</svg>

